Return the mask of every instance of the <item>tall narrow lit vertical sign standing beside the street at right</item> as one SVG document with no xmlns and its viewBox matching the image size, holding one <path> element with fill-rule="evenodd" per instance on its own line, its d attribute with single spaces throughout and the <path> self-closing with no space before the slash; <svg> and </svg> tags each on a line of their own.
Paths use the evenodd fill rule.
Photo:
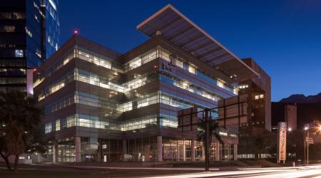
<svg viewBox="0 0 321 178">
<path fill-rule="evenodd" d="M 287 152 L 287 123 L 277 123 L 277 163 L 285 162 Z"/>
</svg>

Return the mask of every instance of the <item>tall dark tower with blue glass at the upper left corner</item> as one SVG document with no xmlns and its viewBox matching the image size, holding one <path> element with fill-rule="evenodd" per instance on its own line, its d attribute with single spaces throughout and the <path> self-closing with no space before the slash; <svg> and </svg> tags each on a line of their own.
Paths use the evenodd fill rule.
<svg viewBox="0 0 321 178">
<path fill-rule="evenodd" d="M 56 0 L 0 1 L 1 92 L 33 93 L 34 69 L 58 49 L 56 3 Z"/>
</svg>

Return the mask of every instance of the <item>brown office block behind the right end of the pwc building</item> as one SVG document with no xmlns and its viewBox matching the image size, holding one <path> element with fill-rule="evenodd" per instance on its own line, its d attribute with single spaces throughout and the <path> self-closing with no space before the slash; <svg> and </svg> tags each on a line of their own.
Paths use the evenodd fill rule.
<svg viewBox="0 0 321 178">
<path fill-rule="evenodd" d="M 238 159 L 272 158 L 270 148 L 259 152 L 253 148 L 255 137 L 271 130 L 271 79 L 252 58 L 242 60 L 259 77 L 240 81 L 238 96 L 219 101 L 219 106 L 227 105 L 220 109 L 220 117 L 238 119 Z"/>
</svg>

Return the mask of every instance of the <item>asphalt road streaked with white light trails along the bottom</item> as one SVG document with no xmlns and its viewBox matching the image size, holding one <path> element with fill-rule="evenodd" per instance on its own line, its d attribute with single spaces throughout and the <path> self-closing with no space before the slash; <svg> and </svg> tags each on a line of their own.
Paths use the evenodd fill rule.
<svg viewBox="0 0 321 178">
<path fill-rule="evenodd" d="M 13 177 L 14 174 L 1 172 L 0 177 Z M 20 177 L 317 177 L 321 178 L 321 164 L 308 167 L 271 167 L 271 168 L 213 168 L 204 172 L 203 168 L 171 168 L 171 167 L 103 167 L 88 165 L 21 165 Z M 29 176 L 26 176 L 28 174 Z"/>
</svg>

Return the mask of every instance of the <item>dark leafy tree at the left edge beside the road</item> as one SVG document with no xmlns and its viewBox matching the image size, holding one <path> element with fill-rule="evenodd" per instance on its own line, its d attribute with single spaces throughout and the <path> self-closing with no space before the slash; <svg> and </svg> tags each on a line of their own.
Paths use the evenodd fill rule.
<svg viewBox="0 0 321 178">
<path fill-rule="evenodd" d="M 13 155 L 16 170 L 19 155 L 35 146 L 33 140 L 41 122 L 41 110 L 25 93 L 15 90 L 0 93 L 0 122 L 0 155 L 10 170 L 9 157 Z"/>
</svg>

